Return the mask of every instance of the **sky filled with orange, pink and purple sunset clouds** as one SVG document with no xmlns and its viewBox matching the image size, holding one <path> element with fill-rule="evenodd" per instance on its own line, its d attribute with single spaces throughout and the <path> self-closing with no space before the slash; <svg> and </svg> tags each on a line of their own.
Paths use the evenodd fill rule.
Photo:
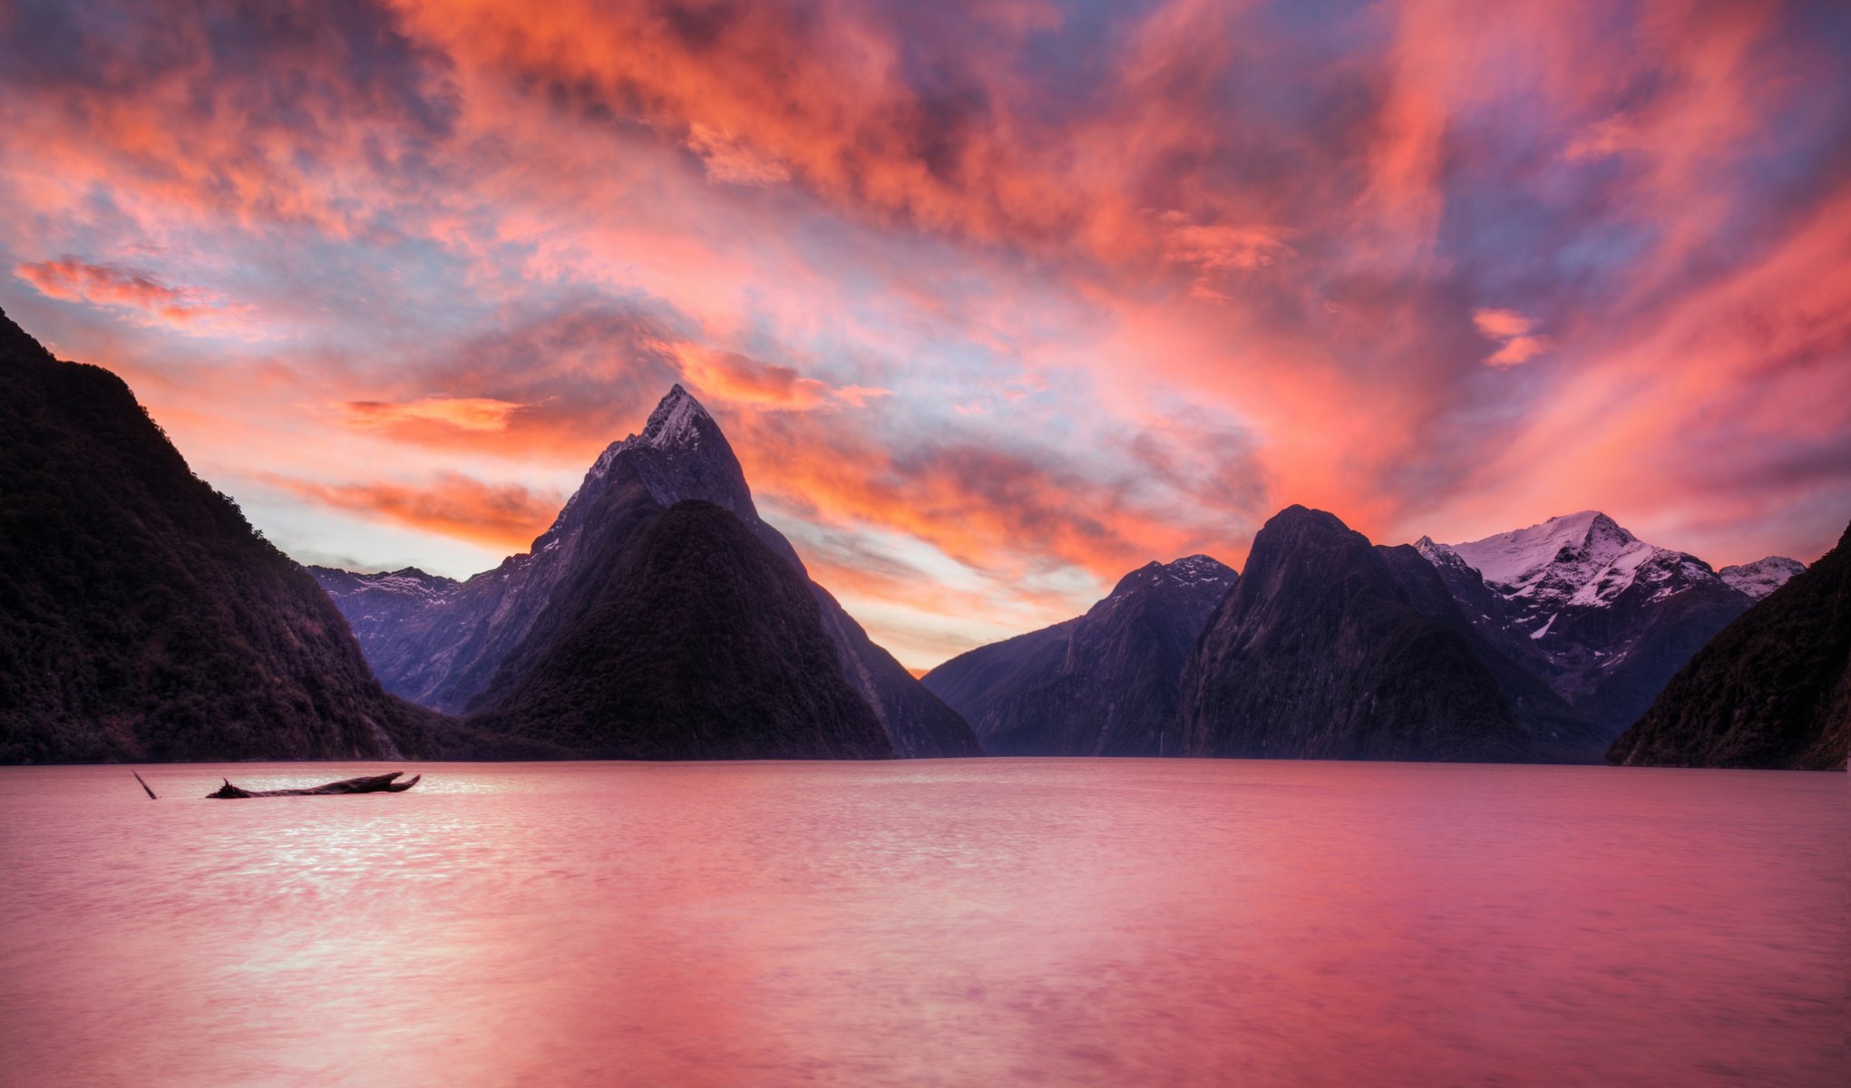
<svg viewBox="0 0 1851 1088">
<path fill-rule="evenodd" d="M 1851 518 L 1842 4 L 0 0 L 0 307 L 304 563 L 676 381 L 913 668 L 1288 503 Z"/>
</svg>

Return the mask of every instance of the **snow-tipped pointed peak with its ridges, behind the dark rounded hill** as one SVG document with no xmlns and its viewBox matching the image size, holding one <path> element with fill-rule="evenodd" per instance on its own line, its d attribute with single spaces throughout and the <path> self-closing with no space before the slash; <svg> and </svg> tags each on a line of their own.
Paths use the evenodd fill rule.
<svg viewBox="0 0 1851 1088">
<path fill-rule="evenodd" d="M 796 550 L 759 518 L 746 476 L 711 414 L 676 385 L 640 435 L 613 442 L 585 474 L 552 527 L 524 555 L 459 585 L 413 579 L 387 590 L 366 579 L 322 570 L 317 577 L 350 616 L 361 648 L 387 690 L 448 712 L 487 709 L 479 701 L 503 661 L 520 646 L 563 587 L 613 557 L 600 496 L 613 481 L 640 481 L 661 509 L 713 503 L 805 579 L 829 637 L 839 672 L 868 703 L 894 751 L 909 757 L 977 755 L 977 738 L 955 711 L 927 692 L 822 587 L 809 581 Z M 529 648 L 531 655 L 531 648 Z"/>
</svg>

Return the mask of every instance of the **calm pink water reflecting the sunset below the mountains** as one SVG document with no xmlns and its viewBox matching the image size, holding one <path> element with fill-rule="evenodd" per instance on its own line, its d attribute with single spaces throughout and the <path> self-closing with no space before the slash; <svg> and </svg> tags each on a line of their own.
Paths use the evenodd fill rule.
<svg viewBox="0 0 1851 1088">
<path fill-rule="evenodd" d="M 1844 775 L 379 770 L 0 770 L 0 1081 L 1844 1082 Z"/>
</svg>

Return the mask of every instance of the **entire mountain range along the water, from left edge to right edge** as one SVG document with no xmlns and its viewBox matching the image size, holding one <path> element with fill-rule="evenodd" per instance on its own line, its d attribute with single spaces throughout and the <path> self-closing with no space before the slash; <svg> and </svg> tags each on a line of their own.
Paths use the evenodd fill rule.
<svg viewBox="0 0 1851 1088">
<path fill-rule="evenodd" d="M 4 315 L 0 394 L 0 762 L 1605 753 L 1844 768 L 1851 736 L 1845 540 L 1812 570 L 1712 570 L 1597 511 L 1375 546 L 1288 507 L 1242 574 L 1207 555 L 1149 563 L 1087 614 L 920 683 L 759 518 L 681 387 L 598 457 L 531 551 L 466 581 L 311 575 L 191 474 L 118 377 L 56 361 Z"/>
</svg>

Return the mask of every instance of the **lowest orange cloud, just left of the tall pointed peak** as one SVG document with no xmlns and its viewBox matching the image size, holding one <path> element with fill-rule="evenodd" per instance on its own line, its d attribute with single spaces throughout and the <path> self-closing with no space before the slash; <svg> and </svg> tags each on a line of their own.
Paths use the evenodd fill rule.
<svg viewBox="0 0 1851 1088">
<path fill-rule="evenodd" d="M 553 492 L 457 474 L 437 474 L 426 487 L 265 479 L 337 511 L 505 551 L 526 551 L 565 503 L 565 496 Z"/>
</svg>

